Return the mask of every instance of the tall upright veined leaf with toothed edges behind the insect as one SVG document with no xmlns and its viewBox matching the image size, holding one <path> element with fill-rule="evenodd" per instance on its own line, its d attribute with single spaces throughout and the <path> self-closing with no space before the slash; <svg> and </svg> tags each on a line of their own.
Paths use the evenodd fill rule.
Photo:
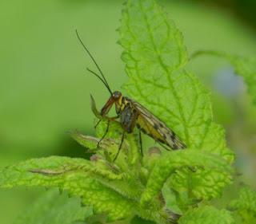
<svg viewBox="0 0 256 224">
<path fill-rule="evenodd" d="M 223 128 L 213 122 L 210 93 L 184 68 L 188 59 L 182 34 L 162 8 L 154 0 L 127 1 L 119 33 L 124 49 L 122 60 L 130 78 L 124 86 L 129 96 L 165 122 L 187 147 L 221 155 L 232 163 L 234 153 L 226 147 Z M 174 186 L 193 191 L 187 186 L 190 174 L 179 174 L 174 177 Z M 194 175 L 194 182 L 204 192 L 196 191 L 192 196 L 216 197 L 215 192 L 225 187 L 225 179 L 230 179 L 216 176 L 215 171 Z M 210 179 L 210 184 L 202 183 L 202 177 Z M 212 191 L 213 187 L 216 191 Z"/>
</svg>

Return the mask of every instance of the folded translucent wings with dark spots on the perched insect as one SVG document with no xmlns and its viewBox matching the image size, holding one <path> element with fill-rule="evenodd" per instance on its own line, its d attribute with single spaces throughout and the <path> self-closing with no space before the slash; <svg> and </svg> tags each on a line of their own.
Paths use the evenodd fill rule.
<svg viewBox="0 0 256 224">
<path fill-rule="evenodd" d="M 172 149 L 186 147 L 186 144 L 182 143 L 178 136 L 170 128 L 167 128 L 166 124 L 144 108 L 142 104 L 134 100 L 132 102 L 134 108 L 138 110 L 137 126 L 142 132 Z"/>
</svg>

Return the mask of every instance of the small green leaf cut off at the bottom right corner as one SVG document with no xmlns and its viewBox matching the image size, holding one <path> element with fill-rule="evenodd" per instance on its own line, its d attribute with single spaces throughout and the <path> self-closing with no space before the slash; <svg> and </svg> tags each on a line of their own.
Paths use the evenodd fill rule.
<svg viewBox="0 0 256 224">
<path fill-rule="evenodd" d="M 256 223 L 256 191 L 250 187 L 242 187 L 239 198 L 230 202 L 231 210 L 234 210 L 242 224 Z"/>
</svg>

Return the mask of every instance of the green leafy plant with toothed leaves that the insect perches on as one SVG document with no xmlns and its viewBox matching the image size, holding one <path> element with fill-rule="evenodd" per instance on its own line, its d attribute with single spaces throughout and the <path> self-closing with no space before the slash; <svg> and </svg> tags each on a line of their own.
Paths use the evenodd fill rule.
<svg viewBox="0 0 256 224">
<path fill-rule="evenodd" d="M 83 211 L 68 206 L 74 211 L 70 216 L 75 217 L 70 218 L 70 223 L 84 222 L 90 208 L 96 220 L 88 222 L 133 222 L 135 216 L 156 223 L 182 224 L 253 220 L 254 191 L 248 195 L 242 191 L 241 197 L 252 198 L 246 205 L 238 200 L 231 202 L 227 210 L 218 210 L 208 204 L 232 183 L 234 153 L 226 147 L 223 128 L 213 121 L 210 93 L 186 69 L 189 58 L 182 34 L 154 0 L 128 0 L 118 31 L 129 76 L 124 90 L 174 129 L 186 143 L 186 150 L 169 152 L 150 147 L 144 148 L 142 157 L 135 132 L 126 135 L 113 163 L 121 128 L 116 122 L 110 123 L 110 131 L 98 148 L 106 130 L 103 120 L 96 129 L 97 137 L 71 133 L 74 140 L 94 152 L 90 161 L 60 156 L 30 159 L 2 168 L 0 186 L 58 187 L 70 196 L 80 197 L 82 205 L 90 207 Z M 248 60 L 242 62 L 244 66 L 238 65 L 238 73 L 249 74 L 244 77 L 253 89 L 250 78 L 255 61 L 250 61 L 250 72 L 245 69 Z M 251 92 L 254 94 L 254 89 Z M 94 104 L 92 108 L 98 116 Z M 37 208 L 40 206 L 35 206 L 34 213 Z M 62 218 L 58 222 L 69 220 Z"/>
</svg>

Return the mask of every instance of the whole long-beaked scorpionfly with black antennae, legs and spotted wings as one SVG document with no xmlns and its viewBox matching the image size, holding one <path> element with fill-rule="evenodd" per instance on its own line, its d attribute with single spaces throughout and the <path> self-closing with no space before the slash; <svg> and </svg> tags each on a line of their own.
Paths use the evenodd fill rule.
<svg viewBox="0 0 256 224">
<path fill-rule="evenodd" d="M 154 116 L 152 112 L 147 110 L 142 104 L 139 104 L 135 100 L 131 100 L 126 96 L 122 96 L 122 92 L 119 91 L 111 91 L 110 85 L 106 81 L 102 70 L 99 68 L 98 64 L 96 63 L 94 57 L 91 55 L 89 50 L 86 48 L 86 45 L 83 44 L 82 39 L 78 35 L 78 31 L 76 30 L 78 40 L 82 44 L 83 48 L 86 50 L 86 53 L 90 56 L 92 61 L 94 61 L 94 65 L 96 65 L 98 73 L 87 68 L 87 70 L 94 74 L 94 76 L 98 77 L 100 81 L 106 86 L 107 90 L 110 92 L 110 98 L 107 100 L 106 104 L 102 107 L 100 111 L 100 115 L 108 119 L 108 125 L 106 128 L 105 134 L 102 136 L 102 139 L 106 136 L 106 133 L 109 129 L 109 124 L 111 120 L 119 120 L 121 127 L 122 127 L 122 140 L 118 147 L 118 152 L 114 157 L 114 160 L 118 158 L 118 154 L 122 148 L 122 143 L 126 133 L 134 132 L 134 128 L 137 127 L 139 130 L 139 141 L 141 144 L 141 152 L 142 152 L 142 136 L 141 132 L 145 133 L 147 136 L 150 136 L 158 143 L 162 143 L 167 147 L 170 147 L 174 150 L 182 149 L 186 147 L 185 143 L 182 143 L 182 140 L 178 138 L 178 136 L 170 130 L 161 120 L 158 119 L 157 116 Z M 115 111 L 117 116 L 108 117 L 108 113 L 110 109 L 115 106 Z M 101 120 L 99 120 L 100 122 Z M 96 124 L 97 125 L 97 124 Z M 101 140 L 98 142 L 98 144 Z M 167 147 L 165 147 L 167 150 Z M 143 153 L 142 153 L 143 155 Z"/>
</svg>

